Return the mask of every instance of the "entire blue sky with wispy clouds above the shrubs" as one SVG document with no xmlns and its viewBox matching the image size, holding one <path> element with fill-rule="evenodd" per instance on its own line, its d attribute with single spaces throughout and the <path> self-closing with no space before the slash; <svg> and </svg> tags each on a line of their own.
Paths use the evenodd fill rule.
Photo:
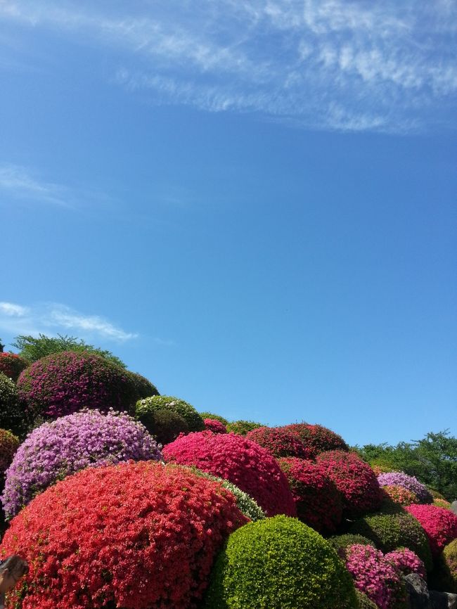
<svg viewBox="0 0 457 609">
<path fill-rule="evenodd" d="M 351 444 L 456 425 L 457 5 L 0 0 L 0 336 Z"/>
</svg>

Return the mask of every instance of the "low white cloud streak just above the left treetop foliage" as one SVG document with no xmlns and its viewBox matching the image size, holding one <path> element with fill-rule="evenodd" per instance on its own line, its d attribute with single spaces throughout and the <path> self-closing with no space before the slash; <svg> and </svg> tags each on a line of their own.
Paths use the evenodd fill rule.
<svg viewBox="0 0 457 609">
<path fill-rule="evenodd" d="M 0 329 L 11 334 L 77 333 L 82 338 L 101 338 L 125 342 L 138 338 L 98 315 L 84 315 L 56 302 L 25 307 L 14 302 L 0 302 Z"/>
</svg>

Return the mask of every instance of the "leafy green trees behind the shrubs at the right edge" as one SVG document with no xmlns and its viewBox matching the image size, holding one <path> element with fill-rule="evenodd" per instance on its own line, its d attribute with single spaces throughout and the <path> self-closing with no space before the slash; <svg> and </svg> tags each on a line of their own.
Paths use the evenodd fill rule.
<svg viewBox="0 0 457 609">
<path fill-rule="evenodd" d="M 366 444 L 356 451 L 371 463 L 391 471 L 404 471 L 437 490 L 448 501 L 457 497 L 457 438 L 449 430 L 429 432 L 422 440 Z"/>
</svg>

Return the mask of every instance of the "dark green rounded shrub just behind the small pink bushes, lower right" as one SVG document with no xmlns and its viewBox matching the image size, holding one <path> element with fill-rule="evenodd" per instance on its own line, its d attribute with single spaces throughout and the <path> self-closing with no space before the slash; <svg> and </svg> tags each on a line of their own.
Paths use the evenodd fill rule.
<svg viewBox="0 0 457 609">
<path fill-rule="evenodd" d="M 350 528 L 351 533 L 373 539 L 378 549 L 392 552 L 408 548 L 423 561 L 427 571 L 432 569 L 432 554 L 425 531 L 408 513 L 367 515 Z"/>
</svg>

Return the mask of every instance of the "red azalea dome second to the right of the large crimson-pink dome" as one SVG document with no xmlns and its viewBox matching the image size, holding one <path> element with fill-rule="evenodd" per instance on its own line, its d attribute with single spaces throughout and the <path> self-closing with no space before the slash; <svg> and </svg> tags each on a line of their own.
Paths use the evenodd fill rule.
<svg viewBox="0 0 457 609">
<path fill-rule="evenodd" d="M 353 517 L 374 511 L 382 501 L 378 479 L 368 465 L 353 452 L 340 450 L 319 454 L 316 459 L 343 497 L 344 515 Z"/>
</svg>

